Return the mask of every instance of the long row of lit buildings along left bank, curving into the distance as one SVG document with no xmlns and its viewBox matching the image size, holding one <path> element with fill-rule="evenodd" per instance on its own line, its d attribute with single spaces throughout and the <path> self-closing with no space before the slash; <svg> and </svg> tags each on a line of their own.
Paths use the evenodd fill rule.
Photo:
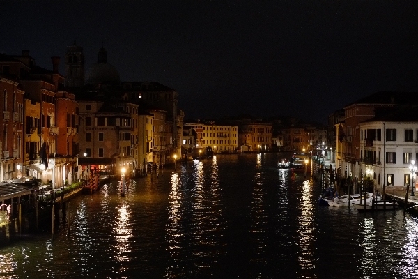
<svg viewBox="0 0 418 279">
<path fill-rule="evenodd" d="M 119 174 L 125 167 L 141 174 L 180 158 L 302 151 L 325 141 L 325 128 L 277 119 L 186 121 L 176 90 L 121 81 L 103 47 L 87 70 L 76 43 L 65 52 L 65 75 L 60 61 L 52 57 L 47 70 L 29 50 L 0 54 L 0 181 L 33 177 L 61 187 L 93 170 Z"/>
</svg>

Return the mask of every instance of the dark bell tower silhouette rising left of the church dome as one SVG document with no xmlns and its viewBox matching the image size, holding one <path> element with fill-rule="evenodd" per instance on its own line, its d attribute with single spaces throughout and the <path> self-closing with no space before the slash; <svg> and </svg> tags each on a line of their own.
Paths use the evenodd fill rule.
<svg viewBox="0 0 418 279">
<path fill-rule="evenodd" d="M 84 54 L 83 47 L 74 45 L 67 47 L 65 52 L 65 87 L 82 87 L 84 85 Z"/>
</svg>

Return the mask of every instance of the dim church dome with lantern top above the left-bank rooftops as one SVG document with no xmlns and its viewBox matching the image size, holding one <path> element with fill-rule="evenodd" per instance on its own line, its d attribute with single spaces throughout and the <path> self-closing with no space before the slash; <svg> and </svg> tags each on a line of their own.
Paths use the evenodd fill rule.
<svg viewBox="0 0 418 279">
<path fill-rule="evenodd" d="M 86 84 L 118 84 L 121 82 L 118 70 L 107 63 L 107 52 L 102 47 L 99 50 L 99 59 L 86 71 Z"/>
</svg>

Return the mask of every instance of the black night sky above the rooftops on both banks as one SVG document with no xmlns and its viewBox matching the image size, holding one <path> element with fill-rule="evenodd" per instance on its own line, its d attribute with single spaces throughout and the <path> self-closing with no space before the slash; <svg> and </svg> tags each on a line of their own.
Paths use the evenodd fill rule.
<svg viewBox="0 0 418 279">
<path fill-rule="evenodd" d="M 0 52 L 107 50 L 122 81 L 160 82 L 189 118 L 327 116 L 418 92 L 418 1 L 0 1 Z"/>
</svg>

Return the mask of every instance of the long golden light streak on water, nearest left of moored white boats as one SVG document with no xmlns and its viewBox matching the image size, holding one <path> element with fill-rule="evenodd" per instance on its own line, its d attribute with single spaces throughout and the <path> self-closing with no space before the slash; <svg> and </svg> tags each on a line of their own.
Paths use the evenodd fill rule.
<svg viewBox="0 0 418 279">
<path fill-rule="evenodd" d="M 313 273 L 318 269 L 318 260 L 315 257 L 315 242 L 317 225 L 314 222 L 316 199 L 311 193 L 311 183 L 304 181 L 302 185 L 302 196 L 299 202 L 300 217 L 298 218 L 299 229 L 299 256 L 297 257 L 300 266 L 300 278 L 314 278 Z"/>
</svg>

